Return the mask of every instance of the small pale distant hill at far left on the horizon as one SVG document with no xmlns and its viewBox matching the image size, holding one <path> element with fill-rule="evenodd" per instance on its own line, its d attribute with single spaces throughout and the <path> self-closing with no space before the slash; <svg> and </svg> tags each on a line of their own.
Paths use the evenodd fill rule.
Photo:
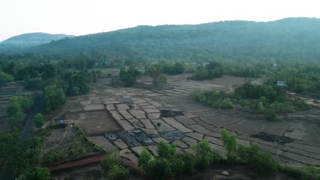
<svg viewBox="0 0 320 180">
<path fill-rule="evenodd" d="M 65 37 L 75 37 L 75 35 L 50 34 L 50 33 L 24 33 L 10 37 L 8 40 L 0 42 L 0 44 L 19 44 L 19 45 L 39 45 L 49 43 L 51 41 L 61 40 Z"/>
</svg>

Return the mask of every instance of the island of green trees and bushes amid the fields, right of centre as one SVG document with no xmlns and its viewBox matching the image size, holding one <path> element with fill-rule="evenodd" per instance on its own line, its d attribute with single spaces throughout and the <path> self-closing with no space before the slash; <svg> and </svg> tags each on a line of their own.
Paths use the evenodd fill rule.
<svg viewBox="0 0 320 180">
<path fill-rule="evenodd" d="M 278 113 L 310 109 L 302 100 L 287 97 L 285 89 L 277 85 L 245 84 L 235 89 L 235 93 L 194 89 L 190 95 L 194 100 L 214 108 L 234 108 L 235 104 L 239 104 L 242 108 L 248 107 L 265 115 L 271 121 L 276 120 Z"/>
</svg>

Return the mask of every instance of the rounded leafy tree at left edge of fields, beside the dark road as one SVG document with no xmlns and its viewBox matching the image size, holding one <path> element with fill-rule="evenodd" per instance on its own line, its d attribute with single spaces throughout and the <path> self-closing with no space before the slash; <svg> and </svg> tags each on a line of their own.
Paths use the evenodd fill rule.
<svg viewBox="0 0 320 180">
<path fill-rule="evenodd" d="M 66 95 L 61 88 L 50 85 L 44 88 L 44 107 L 46 110 L 56 110 L 66 103 Z"/>
</svg>

